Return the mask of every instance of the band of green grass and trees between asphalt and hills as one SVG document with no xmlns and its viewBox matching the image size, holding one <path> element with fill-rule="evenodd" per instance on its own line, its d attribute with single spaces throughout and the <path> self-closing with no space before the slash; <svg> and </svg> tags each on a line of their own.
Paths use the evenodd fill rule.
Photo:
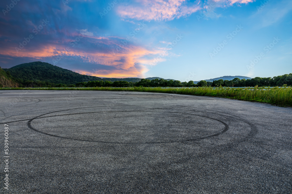
<svg viewBox="0 0 292 194">
<path fill-rule="evenodd" d="M 3 73 L 5 73 L 6 76 L 10 76 L 11 79 L 14 79 L 9 71 L 3 71 Z M 138 82 L 97 80 L 77 82 L 76 84 L 70 85 L 62 83 L 55 84 L 48 81 L 21 80 L 19 86 L 20 88 L 8 88 L 5 86 L 1 88 L 0 85 L 0 90 L 110 90 L 161 92 L 224 97 L 279 106 L 292 106 L 292 73 L 275 76 L 273 78 L 255 77 L 247 80 L 234 78 L 233 80 L 220 79 L 213 82 L 202 80 L 197 84 L 194 84 L 194 81 L 180 82 L 178 80 L 173 81 L 165 79 L 153 79 L 151 81 L 149 79 L 140 79 Z"/>
</svg>

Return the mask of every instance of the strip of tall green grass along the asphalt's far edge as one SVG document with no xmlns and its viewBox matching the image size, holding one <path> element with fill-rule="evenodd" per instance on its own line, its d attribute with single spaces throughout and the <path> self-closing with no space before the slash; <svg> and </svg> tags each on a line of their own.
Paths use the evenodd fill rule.
<svg viewBox="0 0 292 194">
<path fill-rule="evenodd" d="M 103 90 L 103 91 L 132 91 L 159 92 L 170 94 L 185 94 L 195 96 L 223 97 L 250 102 L 261 102 L 279 106 L 292 106 L 292 87 L 254 87 L 254 88 L 0 88 L 0 90 Z"/>
</svg>

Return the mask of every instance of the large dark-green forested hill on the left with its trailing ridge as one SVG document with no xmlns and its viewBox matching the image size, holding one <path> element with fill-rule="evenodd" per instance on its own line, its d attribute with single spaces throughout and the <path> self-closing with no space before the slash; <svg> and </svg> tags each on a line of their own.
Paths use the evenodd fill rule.
<svg viewBox="0 0 292 194">
<path fill-rule="evenodd" d="M 71 70 L 63 69 L 61 67 L 36 61 L 32 63 L 23 63 L 16 65 L 9 69 L 3 69 L 19 82 L 25 80 L 31 81 L 47 81 L 56 84 L 76 84 L 77 82 L 88 81 L 128 81 L 138 82 L 141 78 L 100 78 L 90 75 L 82 75 Z"/>
</svg>

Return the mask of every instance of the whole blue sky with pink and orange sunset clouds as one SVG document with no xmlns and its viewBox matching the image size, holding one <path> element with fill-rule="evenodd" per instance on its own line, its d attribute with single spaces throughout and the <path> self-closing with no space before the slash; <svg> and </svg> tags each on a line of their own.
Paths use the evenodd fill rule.
<svg viewBox="0 0 292 194">
<path fill-rule="evenodd" d="M 3 0 L 0 66 L 199 81 L 292 73 L 291 0 Z"/>
</svg>

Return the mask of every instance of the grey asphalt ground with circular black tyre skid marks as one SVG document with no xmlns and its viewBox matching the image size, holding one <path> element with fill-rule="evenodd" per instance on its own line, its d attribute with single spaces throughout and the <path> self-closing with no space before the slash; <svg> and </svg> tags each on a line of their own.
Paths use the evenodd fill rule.
<svg viewBox="0 0 292 194">
<path fill-rule="evenodd" d="M 161 93 L 0 90 L 0 118 L 0 193 L 292 193 L 291 108 Z"/>
</svg>

